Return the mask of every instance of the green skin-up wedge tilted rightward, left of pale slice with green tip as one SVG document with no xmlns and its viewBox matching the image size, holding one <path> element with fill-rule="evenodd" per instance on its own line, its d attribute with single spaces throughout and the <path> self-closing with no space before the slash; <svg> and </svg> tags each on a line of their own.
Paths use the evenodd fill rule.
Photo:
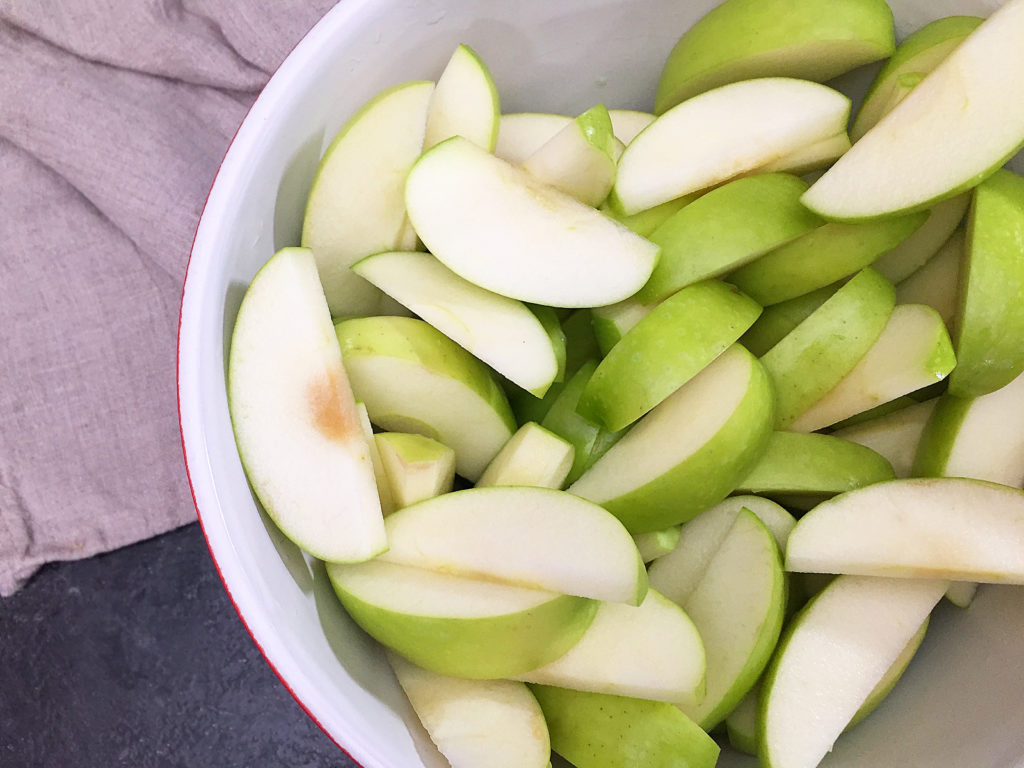
<svg viewBox="0 0 1024 768">
<path fill-rule="evenodd" d="M 775 388 L 775 428 L 784 429 L 839 384 L 870 349 L 896 305 L 896 290 L 862 269 L 761 358 Z"/>
</svg>

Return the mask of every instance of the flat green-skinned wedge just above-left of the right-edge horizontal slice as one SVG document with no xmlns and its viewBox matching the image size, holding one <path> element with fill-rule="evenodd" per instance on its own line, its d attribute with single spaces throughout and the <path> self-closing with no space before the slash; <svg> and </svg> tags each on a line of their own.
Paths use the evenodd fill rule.
<svg viewBox="0 0 1024 768">
<path fill-rule="evenodd" d="M 825 434 L 774 432 L 738 489 L 764 496 L 841 494 L 895 477 L 870 449 Z"/>
</svg>

